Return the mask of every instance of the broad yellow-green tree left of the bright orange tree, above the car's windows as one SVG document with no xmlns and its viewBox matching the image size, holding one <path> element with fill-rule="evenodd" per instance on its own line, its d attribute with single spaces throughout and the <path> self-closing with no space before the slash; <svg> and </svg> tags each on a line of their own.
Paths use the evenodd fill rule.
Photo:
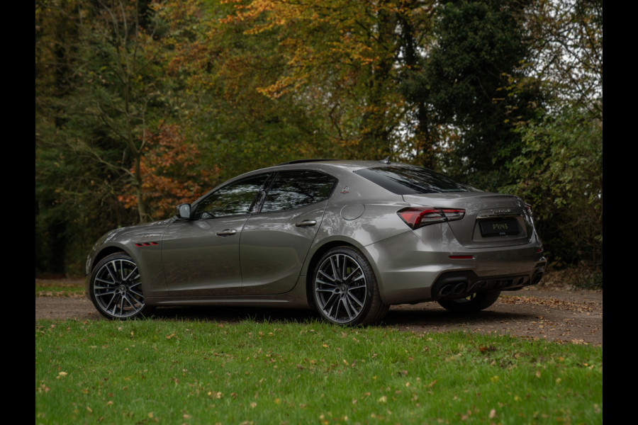
<svg viewBox="0 0 638 425">
<path fill-rule="evenodd" d="M 157 6 L 167 74 L 179 93 L 180 127 L 220 183 L 242 171 L 317 157 L 323 134 L 293 96 L 259 89 L 278 77 L 282 57 L 270 34 L 227 22 L 233 4 L 174 1 Z"/>
</svg>

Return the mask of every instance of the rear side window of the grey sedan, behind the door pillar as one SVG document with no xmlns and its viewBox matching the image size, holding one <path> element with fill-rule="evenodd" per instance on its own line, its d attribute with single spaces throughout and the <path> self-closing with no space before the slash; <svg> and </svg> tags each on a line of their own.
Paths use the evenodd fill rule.
<svg viewBox="0 0 638 425">
<path fill-rule="evenodd" d="M 262 212 L 301 208 L 328 199 L 337 179 L 315 171 L 284 171 L 269 188 Z"/>
</svg>

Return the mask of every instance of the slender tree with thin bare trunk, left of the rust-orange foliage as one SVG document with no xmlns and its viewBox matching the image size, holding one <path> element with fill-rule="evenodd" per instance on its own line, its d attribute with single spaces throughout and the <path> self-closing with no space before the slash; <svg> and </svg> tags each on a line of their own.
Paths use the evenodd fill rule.
<svg viewBox="0 0 638 425">
<path fill-rule="evenodd" d="M 89 9 L 91 19 L 84 23 L 82 39 L 81 69 L 97 84 L 86 84 L 80 96 L 86 113 L 100 121 L 104 136 L 120 147 L 121 158 L 113 161 L 103 157 L 86 141 L 81 141 L 80 149 L 103 166 L 128 175 L 140 222 L 150 219 L 140 164 L 153 119 L 150 105 L 159 97 L 153 68 L 161 60 L 149 13 L 148 4 L 140 0 L 99 3 Z M 152 105 L 155 113 L 161 114 L 158 106 Z"/>
</svg>

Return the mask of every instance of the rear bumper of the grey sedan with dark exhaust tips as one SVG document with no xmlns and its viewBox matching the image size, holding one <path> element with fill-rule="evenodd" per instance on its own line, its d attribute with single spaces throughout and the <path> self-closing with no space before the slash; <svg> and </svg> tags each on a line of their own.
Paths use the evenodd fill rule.
<svg viewBox="0 0 638 425">
<path fill-rule="evenodd" d="M 430 241 L 405 232 L 364 246 L 364 254 L 376 266 L 381 299 L 386 304 L 466 297 L 486 290 L 517 290 L 539 283 L 547 264 L 538 241 L 468 249 L 454 239 L 445 239 Z"/>
</svg>

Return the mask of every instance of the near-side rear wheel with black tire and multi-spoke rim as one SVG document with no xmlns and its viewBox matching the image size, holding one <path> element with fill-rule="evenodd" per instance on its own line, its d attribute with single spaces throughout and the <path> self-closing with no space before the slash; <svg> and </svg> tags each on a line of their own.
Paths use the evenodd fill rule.
<svg viewBox="0 0 638 425">
<path fill-rule="evenodd" d="M 319 314 L 335 324 L 378 322 L 390 308 L 381 301 L 370 263 L 349 246 L 324 254 L 313 273 L 312 292 Z"/>
</svg>

